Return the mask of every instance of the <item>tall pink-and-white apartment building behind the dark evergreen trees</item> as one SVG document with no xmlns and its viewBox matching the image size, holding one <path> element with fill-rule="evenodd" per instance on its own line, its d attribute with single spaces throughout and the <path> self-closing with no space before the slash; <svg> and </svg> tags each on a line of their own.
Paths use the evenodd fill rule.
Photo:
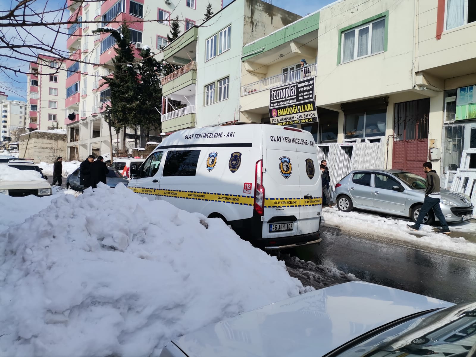
<svg viewBox="0 0 476 357">
<path fill-rule="evenodd" d="M 221 9 L 221 0 L 210 0 L 214 12 Z M 106 0 L 81 6 L 81 2 L 68 0 L 70 18 L 78 17 L 82 26 L 68 29 L 67 49 L 70 61 L 66 64 L 72 73 L 66 83 L 64 117 L 68 128 L 67 155 L 69 159 L 83 159 L 91 153 L 109 153 L 109 127 L 103 119 L 106 104 L 110 101 L 110 89 L 103 85 L 102 77 L 112 75 L 115 56 L 115 41 L 109 33 L 92 34 L 98 27 L 119 28 L 126 23 L 131 34 L 131 45 L 139 57 L 140 48 L 149 46 L 162 59 L 161 48 L 167 45 L 167 34 L 173 19 L 178 16 L 185 32 L 203 22 L 208 1 L 200 0 Z M 87 23 L 101 20 L 101 23 Z M 114 22 L 111 22 L 114 21 Z M 116 22 L 117 21 L 117 22 Z M 74 60 L 90 64 L 78 65 Z M 113 133 L 114 136 L 115 133 Z M 123 133 L 119 133 L 119 137 Z M 113 140 L 113 150 L 128 150 L 134 147 L 134 134 L 127 130 L 126 148 L 121 140 Z"/>
</svg>

